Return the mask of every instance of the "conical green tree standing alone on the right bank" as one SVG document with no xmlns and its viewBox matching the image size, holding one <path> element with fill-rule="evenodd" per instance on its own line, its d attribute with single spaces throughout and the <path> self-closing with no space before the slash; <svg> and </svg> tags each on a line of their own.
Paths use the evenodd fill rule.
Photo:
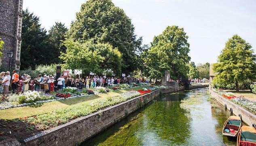
<svg viewBox="0 0 256 146">
<path fill-rule="evenodd" d="M 235 89 L 239 91 L 240 83 L 255 81 L 255 61 L 252 46 L 239 35 L 233 35 L 218 56 L 218 63 L 213 66 L 214 71 L 218 73 L 214 77 L 214 84 L 221 87 L 235 83 Z"/>
</svg>

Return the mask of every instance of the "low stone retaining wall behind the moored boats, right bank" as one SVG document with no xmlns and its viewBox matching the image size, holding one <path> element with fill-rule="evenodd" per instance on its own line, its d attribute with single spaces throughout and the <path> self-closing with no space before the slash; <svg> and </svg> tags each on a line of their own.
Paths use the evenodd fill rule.
<svg viewBox="0 0 256 146">
<path fill-rule="evenodd" d="M 220 96 L 216 92 L 209 89 L 210 94 L 223 106 L 227 106 L 227 109 L 230 111 L 230 108 L 233 110 L 233 114 L 239 116 L 241 114 L 242 120 L 245 124 L 252 126 L 252 124 L 256 124 L 256 115 L 246 110 L 245 108 L 235 104 L 234 102 Z"/>
</svg>

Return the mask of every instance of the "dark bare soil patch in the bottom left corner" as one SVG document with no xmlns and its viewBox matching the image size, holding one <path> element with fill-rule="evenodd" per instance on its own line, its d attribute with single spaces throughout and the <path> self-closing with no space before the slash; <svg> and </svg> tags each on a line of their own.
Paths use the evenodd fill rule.
<svg viewBox="0 0 256 146">
<path fill-rule="evenodd" d="M 25 138 L 33 136 L 40 131 L 35 125 L 25 123 L 19 119 L 0 119 L 0 141 L 16 138 L 19 142 L 23 142 Z"/>
</svg>

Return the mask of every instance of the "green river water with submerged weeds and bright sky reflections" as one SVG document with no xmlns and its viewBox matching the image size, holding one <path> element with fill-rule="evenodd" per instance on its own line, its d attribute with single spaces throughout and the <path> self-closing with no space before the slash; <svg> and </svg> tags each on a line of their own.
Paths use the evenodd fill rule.
<svg viewBox="0 0 256 146">
<path fill-rule="evenodd" d="M 209 100 L 208 88 L 162 94 L 144 108 L 99 133 L 83 146 L 225 146 L 229 111 Z"/>
</svg>

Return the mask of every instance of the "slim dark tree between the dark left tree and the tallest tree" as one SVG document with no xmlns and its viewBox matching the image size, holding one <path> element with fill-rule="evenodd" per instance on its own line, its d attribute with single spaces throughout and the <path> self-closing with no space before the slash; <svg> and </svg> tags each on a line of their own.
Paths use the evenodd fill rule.
<svg viewBox="0 0 256 146">
<path fill-rule="evenodd" d="M 48 42 L 53 50 L 53 60 L 54 63 L 60 63 L 60 52 L 66 52 L 66 47 L 62 44 L 62 41 L 65 40 L 65 35 L 68 31 L 68 28 L 61 22 L 55 22 L 55 25 L 51 27 L 48 34 Z"/>
</svg>

